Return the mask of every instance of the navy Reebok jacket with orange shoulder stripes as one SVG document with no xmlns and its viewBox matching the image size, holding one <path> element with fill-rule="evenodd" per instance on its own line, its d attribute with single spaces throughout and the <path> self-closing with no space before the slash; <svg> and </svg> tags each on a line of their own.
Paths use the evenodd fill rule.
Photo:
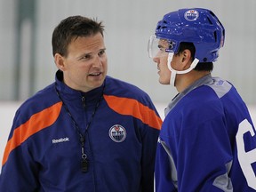
<svg viewBox="0 0 256 192">
<path fill-rule="evenodd" d="M 55 83 L 17 110 L 0 191 L 153 192 L 162 120 L 148 94 L 110 76 L 99 88 L 78 92 L 62 78 L 58 71 Z M 81 170 L 79 132 L 85 137 L 88 172 Z"/>
</svg>

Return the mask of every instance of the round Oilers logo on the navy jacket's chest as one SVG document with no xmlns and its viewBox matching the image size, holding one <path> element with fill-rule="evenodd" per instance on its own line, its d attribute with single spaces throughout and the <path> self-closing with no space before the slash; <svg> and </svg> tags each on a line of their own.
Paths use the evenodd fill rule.
<svg viewBox="0 0 256 192">
<path fill-rule="evenodd" d="M 126 130 L 120 124 L 115 124 L 109 129 L 109 137 L 115 142 L 123 142 L 126 138 Z"/>
</svg>

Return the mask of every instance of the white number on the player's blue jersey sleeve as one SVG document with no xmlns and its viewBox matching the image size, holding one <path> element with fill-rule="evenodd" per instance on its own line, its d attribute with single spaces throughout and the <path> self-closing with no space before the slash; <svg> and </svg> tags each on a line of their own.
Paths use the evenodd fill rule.
<svg viewBox="0 0 256 192">
<path fill-rule="evenodd" d="M 247 180 L 248 186 L 250 186 L 253 189 L 256 189 L 256 177 L 251 165 L 252 163 L 256 162 L 256 148 L 252 149 L 251 151 L 245 152 L 245 132 L 250 132 L 252 137 L 255 135 L 252 125 L 244 119 L 244 121 L 241 122 L 241 124 L 239 124 L 239 129 L 236 134 L 237 156 L 240 166 L 244 172 L 245 179 Z"/>
</svg>

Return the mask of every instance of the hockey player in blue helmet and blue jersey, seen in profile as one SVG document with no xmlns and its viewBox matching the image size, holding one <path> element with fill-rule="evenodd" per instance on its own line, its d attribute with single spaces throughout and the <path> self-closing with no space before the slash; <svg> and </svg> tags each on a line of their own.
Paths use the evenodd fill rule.
<svg viewBox="0 0 256 192">
<path fill-rule="evenodd" d="M 207 9 L 164 15 L 148 42 L 160 84 L 179 94 L 165 109 L 156 154 L 157 192 L 256 190 L 256 136 L 236 88 L 212 77 L 225 29 Z"/>
</svg>

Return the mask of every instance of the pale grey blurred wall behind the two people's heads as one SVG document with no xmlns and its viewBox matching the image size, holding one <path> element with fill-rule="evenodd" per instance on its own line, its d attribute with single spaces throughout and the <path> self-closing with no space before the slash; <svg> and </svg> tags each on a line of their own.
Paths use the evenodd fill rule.
<svg viewBox="0 0 256 192">
<path fill-rule="evenodd" d="M 256 1 L 234 0 L 0 0 L 0 100 L 26 100 L 54 81 L 53 28 L 70 15 L 102 20 L 108 75 L 139 86 L 152 100 L 167 102 L 175 89 L 158 84 L 148 58 L 148 38 L 165 13 L 185 7 L 211 9 L 226 28 L 225 44 L 213 76 L 236 86 L 256 105 Z M 172 97 L 172 96 L 171 96 Z"/>
</svg>

